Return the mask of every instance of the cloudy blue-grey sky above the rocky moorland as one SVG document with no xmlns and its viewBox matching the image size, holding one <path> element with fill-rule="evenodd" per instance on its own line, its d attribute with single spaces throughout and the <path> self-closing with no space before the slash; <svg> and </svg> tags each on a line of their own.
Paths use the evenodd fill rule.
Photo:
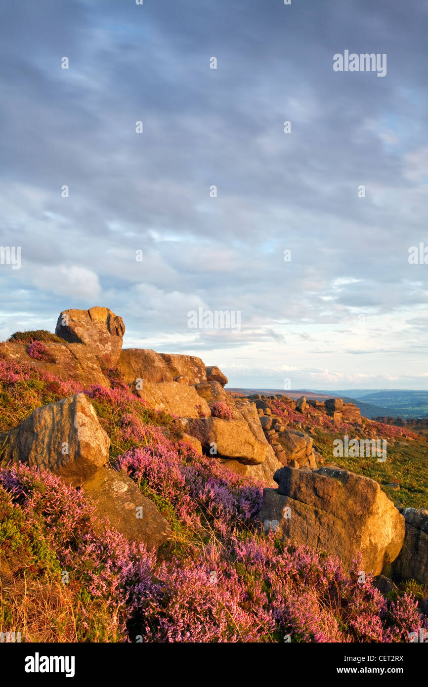
<svg viewBox="0 0 428 687">
<path fill-rule="evenodd" d="M 98 305 L 232 387 L 428 388 L 425 0 L 0 7 L 0 340 Z"/>
</svg>

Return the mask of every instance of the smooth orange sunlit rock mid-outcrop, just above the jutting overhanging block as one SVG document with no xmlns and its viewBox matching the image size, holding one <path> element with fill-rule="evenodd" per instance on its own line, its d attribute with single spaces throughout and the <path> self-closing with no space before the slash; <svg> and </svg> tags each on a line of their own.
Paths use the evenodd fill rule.
<svg viewBox="0 0 428 687">
<path fill-rule="evenodd" d="M 210 406 L 201 398 L 193 386 L 177 382 L 143 382 L 137 396 L 144 398 L 151 408 L 164 410 L 179 418 L 211 416 Z"/>
</svg>

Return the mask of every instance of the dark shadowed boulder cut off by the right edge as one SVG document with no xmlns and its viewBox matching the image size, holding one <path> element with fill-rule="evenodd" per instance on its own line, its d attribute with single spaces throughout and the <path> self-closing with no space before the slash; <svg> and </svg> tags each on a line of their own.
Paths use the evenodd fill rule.
<svg viewBox="0 0 428 687">
<path fill-rule="evenodd" d="M 395 582 L 416 580 L 421 585 L 428 581 L 428 510 L 405 508 L 405 538 L 403 548 L 385 575 Z"/>
</svg>

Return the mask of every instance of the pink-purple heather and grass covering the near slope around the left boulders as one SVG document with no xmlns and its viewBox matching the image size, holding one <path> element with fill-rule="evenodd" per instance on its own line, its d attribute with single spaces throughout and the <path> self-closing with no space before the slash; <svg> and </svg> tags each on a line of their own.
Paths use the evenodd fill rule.
<svg viewBox="0 0 428 687">
<path fill-rule="evenodd" d="M 181 442 L 106 370 L 91 399 L 111 438 L 111 465 L 155 502 L 174 536 L 157 554 L 95 516 L 52 473 L 0 464 L 1 631 L 27 641 L 407 642 L 423 627 L 403 585 L 384 598 L 359 561 L 284 545 L 257 523 L 262 487 Z M 81 391 L 52 374 L 0 360 L 1 429 Z M 29 600 L 30 599 L 30 600 Z"/>
</svg>

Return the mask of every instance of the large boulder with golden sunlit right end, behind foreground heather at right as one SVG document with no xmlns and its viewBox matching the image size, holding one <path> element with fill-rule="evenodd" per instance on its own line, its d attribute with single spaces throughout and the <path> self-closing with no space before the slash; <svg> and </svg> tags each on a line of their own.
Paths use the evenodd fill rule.
<svg viewBox="0 0 428 687">
<path fill-rule="evenodd" d="M 374 480 L 334 467 L 284 467 L 274 479 L 260 520 L 278 520 L 284 539 L 339 556 L 347 570 L 360 552 L 361 569 L 375 575 L 398 556 L 405 521 Z"/>
</svg>

